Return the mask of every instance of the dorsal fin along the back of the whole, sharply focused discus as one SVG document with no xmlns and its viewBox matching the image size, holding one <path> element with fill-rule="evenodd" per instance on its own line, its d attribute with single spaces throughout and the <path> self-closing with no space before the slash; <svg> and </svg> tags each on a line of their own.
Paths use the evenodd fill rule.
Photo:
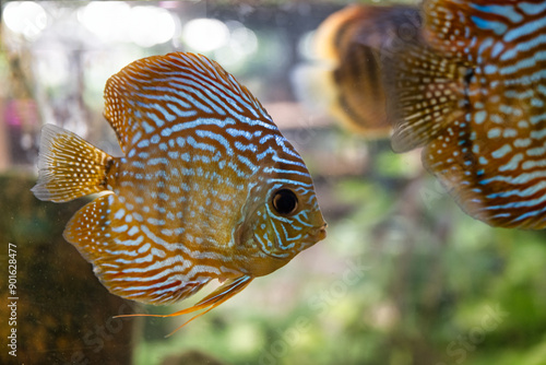
<svg viewBox="0 0 546 365">
<path fill-rule="evenodd" d="M 260 120 L 276 127 L 252 94 L 218 63 L 201 55 L 174 52 L 143 58 L 112 75 L 105 89 L 105 117 L 121 149 L 165 128 L 206 118 Z"/>
</svg>

